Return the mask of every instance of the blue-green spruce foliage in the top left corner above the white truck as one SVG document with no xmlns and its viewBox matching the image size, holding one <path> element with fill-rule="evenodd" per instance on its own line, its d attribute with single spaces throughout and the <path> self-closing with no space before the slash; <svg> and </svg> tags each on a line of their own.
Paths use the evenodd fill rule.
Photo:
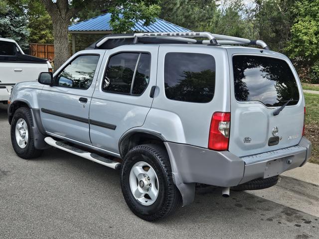
<svg viewBox="0 0 319 239">
<path fill-rule="evenodd" d="M 22 49 L 28 47 L 26 17 L 15 11 L 6 2 L 0 2 L 0 37 L 15 40 Z"/>
</svg>

